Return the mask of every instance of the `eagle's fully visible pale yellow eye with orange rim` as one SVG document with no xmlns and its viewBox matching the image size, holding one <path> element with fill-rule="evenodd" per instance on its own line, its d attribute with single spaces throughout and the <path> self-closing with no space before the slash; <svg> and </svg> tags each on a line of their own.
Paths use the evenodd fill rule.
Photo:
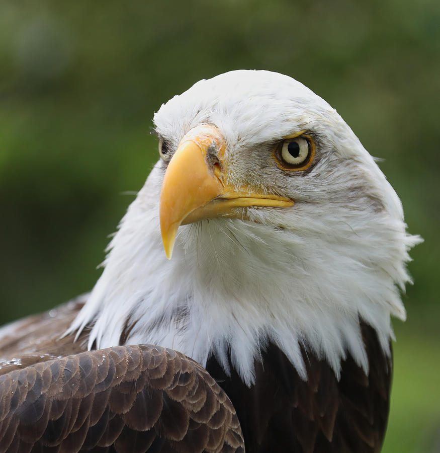
<svg viewBox="0 0 440 453">
<path fill-rule="evenodd" d="M 278 165 L 284 170 L 305 170 L 310 167 L 315 154 L 312 138 L 302 134 L 298 137 L 285 138 L 276 150 Z"/>
</svg>

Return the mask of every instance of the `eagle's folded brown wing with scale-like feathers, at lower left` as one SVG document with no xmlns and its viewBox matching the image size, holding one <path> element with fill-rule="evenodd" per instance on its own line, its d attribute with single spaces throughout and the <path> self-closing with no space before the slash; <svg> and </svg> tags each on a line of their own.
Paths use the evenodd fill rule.
<svg viewBox="0 0 440 453">
<path fill-rule="evenodd" d="M 59 310 L 76 312 L 78 307 L 62 306 Z M 2 344 L 5 351 L 25 342 L 21 337 L 26 326 L 30 337 L 37 336 L 49 319 L 50 314 L 46 314 L 19 322 L 22 334 L 16 340 L 6 335 Z M 50 352 L 39 354 L 38 349 L 50 343 L 53 331 L 35 350 L 27 344 L 22 357 L 2 362 L 0 453 L 33 448 L 72 452 L 244 451 L 231 402 L 194 360 L 151 345 L 117 346 L 54 358 L 56 346 L 58 352 L 67 350 L 68 342 L 63 339 L 58 344 L 52 339 Z M 71 338 L 69 344 L 70 348 L 81 348 Z"/>
</svg>

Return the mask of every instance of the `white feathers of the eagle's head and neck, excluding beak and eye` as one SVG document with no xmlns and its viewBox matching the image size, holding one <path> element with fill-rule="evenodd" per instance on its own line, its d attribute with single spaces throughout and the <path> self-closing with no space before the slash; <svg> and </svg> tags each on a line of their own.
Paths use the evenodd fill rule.
<svg viewBox="0 0 440 453">
<path fill-rule="evenodd" d="M 304 345 L 339 375 L 347 351 L 364 370 L 359 319 L 389 353 L 390 317 L 405 319 L 399 289 L 410 278 L 399 198 L 337 112 L 299 82 L 268 71 L 202 80 L 162 105 L 157 132 L 175 149 L 201 123 L 227 144 L 232 182 L 295 200 L 289 208 L 241 208 L 248 220 L 216 218 L 181 226 L 173 257 L 160 239 L 158 162 L 109 246 L 105 270 L 70 331 L 93 325 L 89 347 L 153 343 L 205 365 L 227 354 L 246 384 L 268 342 L 305 379 Z M 314 167 L 287 177 L 269 144 L 310 131 Z"/>
</svg>

